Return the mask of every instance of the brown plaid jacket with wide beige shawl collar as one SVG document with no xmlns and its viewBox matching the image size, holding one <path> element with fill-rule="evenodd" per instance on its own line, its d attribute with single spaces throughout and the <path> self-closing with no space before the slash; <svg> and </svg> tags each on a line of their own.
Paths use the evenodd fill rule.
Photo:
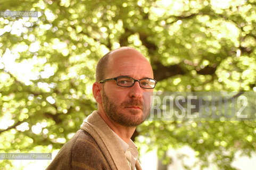
<svg viewBox="0 0 256 170">
<path fill-rule="evenodd" d="M 142 170 L 138 160 L 135 166 Z M 81 130 L 61 148 L 49 169 L 130 170 L 130 166 L 112 130 L 94 111 L 84 120 Z"/>
</svg>

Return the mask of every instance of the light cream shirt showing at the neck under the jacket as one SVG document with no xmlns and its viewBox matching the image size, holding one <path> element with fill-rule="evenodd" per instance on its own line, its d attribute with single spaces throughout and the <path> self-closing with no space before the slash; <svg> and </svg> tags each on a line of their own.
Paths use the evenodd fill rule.
<svg viewBox="0 0 256 170">
<path fill-rule="evenodd" d="M 114 132 L 114 131 L 113 131 Z M 129 143 L 127 144 L 125 141 L 123 141 L 115 132 L 115 137 L 117 137 L 123 152 L 125 152 L 126 159 L 128 161 L 128 164 L 131 167 L 131 170 L 136 170 L 135 164 L 138 157 L 138 150 L 135 143 L 130 139 Z"/>
</svg>

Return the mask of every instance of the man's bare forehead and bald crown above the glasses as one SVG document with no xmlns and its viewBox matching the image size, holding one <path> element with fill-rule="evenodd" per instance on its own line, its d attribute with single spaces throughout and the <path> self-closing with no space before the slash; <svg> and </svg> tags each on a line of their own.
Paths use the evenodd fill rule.
<svg viewBox="0 0 256 170">
<path fill-rule="evenodd" d="M 153 78 L 150 63 L 133 48 L 121 48 L 110 54 L 108 62 L 108 77 L 128 75 L 135 79 Z"/>
</svg>

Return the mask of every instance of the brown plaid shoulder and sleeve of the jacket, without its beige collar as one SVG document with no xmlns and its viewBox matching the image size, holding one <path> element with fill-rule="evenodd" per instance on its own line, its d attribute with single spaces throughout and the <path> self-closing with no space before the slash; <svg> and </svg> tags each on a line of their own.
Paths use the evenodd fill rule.
<svg viewBox="0 0 256 170">
<path fill-rule="evenodd" d="M 61 148 L 49 167 L 49 169 L 63 167 L 65 169 L 109 169 L 97 142 L 84 130 L 77 131 Z"/>
</svg>

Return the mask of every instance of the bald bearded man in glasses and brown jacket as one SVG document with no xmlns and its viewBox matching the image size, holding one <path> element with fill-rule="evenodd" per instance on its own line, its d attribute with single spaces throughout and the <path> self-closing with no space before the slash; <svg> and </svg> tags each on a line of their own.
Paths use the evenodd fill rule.
<svg viewBox="0 0 256 170">
<path fill-rule="evenodd" d="M 142 169 L 130 140 L 149 113 L 156 81 L 150 63 L 136 49 L 121 47 L 101 58 L 93 95 L 98 111 L 90 114 L 47 169 Z"/>
</svg>

